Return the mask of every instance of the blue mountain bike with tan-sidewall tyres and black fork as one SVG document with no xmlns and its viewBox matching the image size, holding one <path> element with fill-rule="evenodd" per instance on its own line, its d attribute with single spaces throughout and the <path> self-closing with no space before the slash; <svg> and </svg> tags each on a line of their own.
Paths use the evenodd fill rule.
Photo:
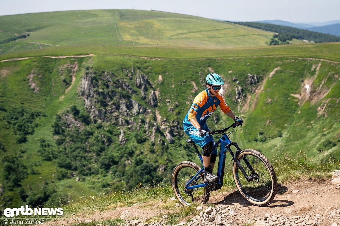
<svg viewBox="0 0 340 226">
<path fill-rule="evenodd" d="M 196 163 L 184 161 L 179 163 L 172 172 L 172 187 L 176 198 L 182 205 L 203 204 L 209 201 L 210 192 L 221 189 L 223 185 L 225 157 L 227 151 L 231 154 L 233 164 L 234 181 L 242 196 L 255 206 L 268 205 L 276 195 L 277 181 L 273 166 L 259 151 L 253 149 L 241 150 L 237 143 L 232 142 L 229 136 L 235 132 L 233 123 L 231 126 L 215 131 L 209 131 L 209 135 L 222 134 L 212 150 L 220 146 L 216 182 L 204 183 L 204 167 Z M 232 128 L 232 131 L 226 132 Z M 203 166 L 201 153 L 195 143 L 191 143 Z M 236 151 L 233 152 L 232 148 Z"/>
</svg>

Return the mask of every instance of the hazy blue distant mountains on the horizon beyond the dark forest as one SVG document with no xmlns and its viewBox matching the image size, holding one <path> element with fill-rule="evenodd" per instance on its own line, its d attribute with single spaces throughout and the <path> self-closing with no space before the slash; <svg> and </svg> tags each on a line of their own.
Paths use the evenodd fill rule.
<svg viewBox="0 0 340 226">
<path fill-rule="evenodd" d="M 333 21 L 322 22 L 322 23 L 315 22 L 315 23 L 310 23 L 310 24 L 291 23 L 291 22 L 283 21 L 283 20 L 261 20 L 261 21 L 256 21 L 256 22 L 269 23 L 269 24 L 275 24 L 275 25 L 280 25 L 280 26 L 288 26 L 288 27 L 294 27 L 294 28 L 299 28 L 299 29 L 306 29 L 306 30 L 310 30 L 313 32 L 320 32 L 324 34 L 340 36 L 340 20 L 333 20 Z"/>
</svg>

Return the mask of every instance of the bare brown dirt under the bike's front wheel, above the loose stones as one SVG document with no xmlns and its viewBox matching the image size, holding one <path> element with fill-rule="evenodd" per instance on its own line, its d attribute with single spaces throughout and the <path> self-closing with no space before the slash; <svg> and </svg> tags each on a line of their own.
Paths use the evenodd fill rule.
<svg viewBox="0 0 340 226">
<path fill-rule="evenodd" d="M 214 204 L 238 204 L 243 208 L 250 207 L 251 217 L 271 215 L 296 215 L 314 213 L 323 215 L 328 207 L 340 208 L 340 189 L 329 180 L 300 180 L 288 184 L 279 184 L 272 203 L 266 207 L 252 206 L 241 197 L 238 191 L 214 196 L 209 200 Z"/>
</svg>

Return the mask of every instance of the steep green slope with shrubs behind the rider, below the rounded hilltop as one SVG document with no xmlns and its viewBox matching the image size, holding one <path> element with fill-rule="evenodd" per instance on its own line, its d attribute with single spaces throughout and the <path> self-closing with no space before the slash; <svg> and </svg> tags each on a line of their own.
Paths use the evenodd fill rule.
<svg viewBox="0 0 340 226">
<path fill-rule="evenodd" d="M 111 80 L 119 79 L 133 87 L 136 93 L 129 96 L 124 94 L 123 89 L 114 88 L 113 83 L 107 86 L 113 88 L 108 93 L 117 95 L 123 92 L 126 100 L 132 98 L 150 109 L 150 113 L 120 117 L 125 120 L 125 126 L 117 124 L 117 118 L 112 118 L 117 114 L 105 115 L 101 123 L 98 120 L 82 123 L 79 115 L 72 113 L 71 106 L 86 112 L 79 90 L 89 66 L 97 71 L 98 76 L 102 76 L 100 71 L 107 71 L 113 73 Z M 73 84 L 70 82 L 72 68 L 78 68 Z M 278 69 L 271 75 L 275 68 Z M 107 192 L 109 188 L 118 190 L 140 183 L 148 185 L 166 177 L 180 161 L 197 162 L 176 122 L 181 124 L 192 99 L 198 90 L 203 89 L 205 75 L 210 70 L 223 77 L 226 101 L 244 119 L 244 126 L 232 136 L 232 140 L 242 148 L 258 149 L 268 157 L 278 156 L 282 151 L 294 155 L 304 150 L 306 156 L 313 158 L 319 155 L 320 149 L 338 156 L 338 63 L 287 57 L 210 60 L 149 60 L 122 56 L 36 57 L 2 62 L 0 70 L 0 141 L 3 147 L 3 165 L 0 169 L 5 191 L 2 196 L 7 200 L 7 205 L 22 202 L 38 205 L 48 201 L 55 205 L 60 199 L 62 203 L 67 203 L 83 194 Z M 132 70 L 136 72 L 131 74 Z M 157 108 L 150 108 L 148 99 L 143 100 L 140 90 L 135 87 L 137 71 L 145 74 L 153 84 L 148 87 L 147 94 L 151 90 L 157 91 Z M 249 84 L 249 74 L 256 75 L 258 83 Z M 234 78 L 236 81 L 233 81 Z M 304 85 L 307 83 L 313 93 L 308 99 L 304 97 Z M 66 93 L 68 87 L 71 88 Z M 235 100 L 235 89 L 238 87 L 243 90 L 243 98 Z M 98 86 L 94 91 L 107 95 L 106 89 Z M 106 98 L 102 105 L 96 106 L 98 109 L 106 109 L 103 108 L 105 103 L 116 101 L 109 98 L 106 102 Z M 18 114 L 21 108 L 27 110 L 22 116 Z M 32 122 L 26 121 L 34 111 L 40 114 Z M 56 114 L 70 120 L 61 124 L 65 130 L 63 133 L 55 133 L 55 123 L 58 122 Z M 13 115 L 17 116 L 16 120 Z M 214 120 L 217 120 L 216 124 Z M 220 112 L 216 112 L 214 120 L 209 123 L 212 129 L 231 123 Z M 18 127 L 20 123 L 17 121 L 32 125 L 24 135 L 26 142 L 20 141 L 20 131 L 26 127 Z M 147 121 L 157 125 L 154 141 L 148 138 L 151 128 L 146 126 Z M 72 128 L 72 124 L 81 125 L 82 132 L 80 127 Z M 138 131 L 138 127 L 146 129 Z M 173 144 L 165 138 L 167 128 L 173 128 Z M 127 140 L 124 145 L 118 141 L 121 130 Z M 84 139 L 82 136 L 87 137 Z M 103 145 L 109 137 L 112 141 Z M 92 156 L 91 161 L 87 160 L 87 156 Z M 8 162 L 22 167 L 8 173 L 8 168 L 5 168 Z M 63 164 L 67 162 L 70 166 Z M 152 168 L 148 169 L 147 166 Z M 165 167 L 164 171 L 157 170 L 161 166 Z M 156 171 L 153 177 L 149 177 Z M 9 182 L 13 186 L 8 186 L 11 185 Z M 22 195 L 19 197 L 16 194 Z"/>
</svg>

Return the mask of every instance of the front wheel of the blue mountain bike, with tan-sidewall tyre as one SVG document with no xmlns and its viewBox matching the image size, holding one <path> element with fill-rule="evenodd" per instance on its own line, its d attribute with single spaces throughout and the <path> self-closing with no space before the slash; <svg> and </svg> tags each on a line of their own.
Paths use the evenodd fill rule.
<svg viewBox="0 0 340 226">
<path fill-rule="evenodd" d="M 273 166 L 262 153 L 252 149 L 241 151 L 237 159 L 250 177 L 248 181 L 234 162 L 233 173 L 237 189 L 253 205 L 268 205 L 274 199 L 277 189 Z"/>
</svg>

